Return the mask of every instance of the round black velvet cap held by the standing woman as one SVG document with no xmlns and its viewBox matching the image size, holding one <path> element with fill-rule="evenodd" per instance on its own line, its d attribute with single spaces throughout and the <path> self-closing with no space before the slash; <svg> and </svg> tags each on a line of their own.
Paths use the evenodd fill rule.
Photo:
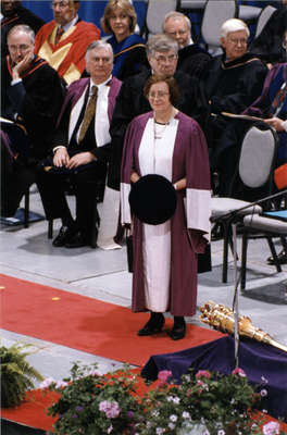
<svg viewBox="0 0 287 435">
<path fill-rule="evenodd" d="M 171 219 L 176 209 L 176 191 L 162 175 L 139 178 L 129 192 L 132 212 L 144 223 L 159 225 Z"/>
</svg>

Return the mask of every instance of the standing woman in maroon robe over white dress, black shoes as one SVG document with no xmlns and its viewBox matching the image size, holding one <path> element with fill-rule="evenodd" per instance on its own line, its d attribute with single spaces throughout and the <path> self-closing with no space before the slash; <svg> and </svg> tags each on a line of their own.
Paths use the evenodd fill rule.
<svg viewBox="0 0 287 435">
<path fill-rule="evenodd" d="M 127 128 L 121 179 L 122 223 L 133 220 L 134 227 L 132 309 L 150 311 L 138 335 L 161 332 L 163 313 L 170 311 L 171 338 L 180 339 L 186 334 L 184 316 L 196 313 L 197 254 L 204 251 L 210 232 L 208 148 L 198 123 L 175 108 L 173 77 L 151 76 L 145 96 L 152 112 L 137 116 Z M 147 174 L 164 176 L 176 189 L 175 214 L 160 225 L 130 215 L 130 188 Z"/>
</svg>

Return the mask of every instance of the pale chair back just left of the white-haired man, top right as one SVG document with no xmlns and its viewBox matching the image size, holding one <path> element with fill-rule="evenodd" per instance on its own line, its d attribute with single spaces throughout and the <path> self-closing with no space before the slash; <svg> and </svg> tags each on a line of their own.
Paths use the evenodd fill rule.
<svg viewBox="0 0 287 435">
<path fill-rule="evenodd" d="M 226 20 L 234 18 L 238 14 L 236 0 L 208 0 L 202 23 L 201 37 L 208 46 L 208 50 L 214 53 L 214 50 L 221 50 L 221 26 Z"/>
</svg>

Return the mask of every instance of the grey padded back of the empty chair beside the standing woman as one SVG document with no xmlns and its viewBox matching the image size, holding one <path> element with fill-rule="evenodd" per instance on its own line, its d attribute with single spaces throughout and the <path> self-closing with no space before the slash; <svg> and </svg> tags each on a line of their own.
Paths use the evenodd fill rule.
<svg viewBox="0 0 287 435">
<path fill-rule="evenodd" d="M 248 129 L 242 140 L 238 167 L 245 186 L 257 189 L 267 185 L 271 191 L 277 146 L 276 132 L 265 123 Z"/>
</svg>

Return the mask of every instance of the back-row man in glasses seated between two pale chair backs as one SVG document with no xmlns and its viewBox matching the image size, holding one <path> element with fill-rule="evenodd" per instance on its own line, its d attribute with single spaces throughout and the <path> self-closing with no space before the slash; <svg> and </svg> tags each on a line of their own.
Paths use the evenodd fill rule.
<svg viewBox="0 0 287 435">
<path fill-rule="evenodd" d="M 189 18 L 182 12 L 169 12 L 163 20 L 162 28 L 178 44 L 177 70 L 200 77 L 211 57 L 198 44 L 194 44 Z"/>
</svg>

